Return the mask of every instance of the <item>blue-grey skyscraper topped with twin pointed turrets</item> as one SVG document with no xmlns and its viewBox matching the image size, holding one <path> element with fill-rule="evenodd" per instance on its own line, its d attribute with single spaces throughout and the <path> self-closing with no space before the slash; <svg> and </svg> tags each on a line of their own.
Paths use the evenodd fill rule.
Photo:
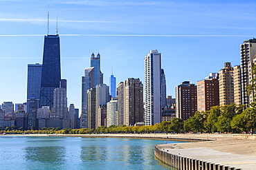
<svg viewBox="0 0 256 170">
<path fill-rule="evenodd" d="M 100 71 L 100 53 L 95 57 L 94 54 L 91 54 L 91 67 L 94 67 L 94 85 L 103 84 L 103 74 Z"/>
</svg>

